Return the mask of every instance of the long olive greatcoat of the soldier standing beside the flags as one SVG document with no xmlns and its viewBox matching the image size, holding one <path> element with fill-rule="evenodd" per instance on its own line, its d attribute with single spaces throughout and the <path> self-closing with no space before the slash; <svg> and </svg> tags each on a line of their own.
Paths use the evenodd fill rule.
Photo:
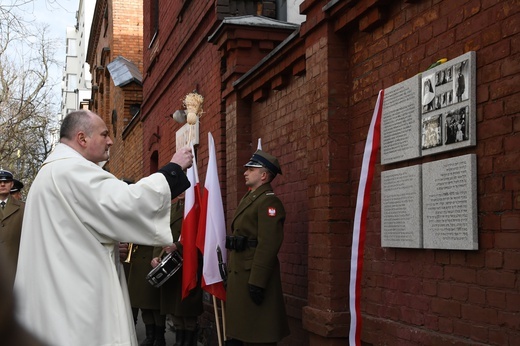
<svg viewBox="0 0 520 346">
<path fill-rule="evenodd" d="M 285 209 L 270 184 L 248 192 L 235 211 L 232 235 L 258 244 L 229 252 L 226 332 L 231 338 L 269 343 L 289 335 L 278 261 L 284 221 Z M 248 284 L 264 289 L 261 305 L 251 300 Z"/>
</svg>

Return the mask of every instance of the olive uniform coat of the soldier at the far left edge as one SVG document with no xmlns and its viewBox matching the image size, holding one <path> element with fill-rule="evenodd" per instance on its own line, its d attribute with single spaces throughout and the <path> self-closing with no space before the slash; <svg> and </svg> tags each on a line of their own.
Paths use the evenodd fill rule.
<svg viewBox="0 0 520 346">
<path fill-rule="evenodd" d="M 14 284 L 16 263 L 18 262 L 24 208 L 24 202 L 9 197 L 4 209 L 0 209 L 0 248 L 8 262 L 10 271 L 7 278 L 11 287 Z"/>
</svg>

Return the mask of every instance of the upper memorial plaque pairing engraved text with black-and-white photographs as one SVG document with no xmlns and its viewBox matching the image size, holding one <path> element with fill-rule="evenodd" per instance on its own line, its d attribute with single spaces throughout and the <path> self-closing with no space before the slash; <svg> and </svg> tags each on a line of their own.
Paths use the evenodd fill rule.
<svg viewBox="0 0 520 346">
<path fill-rule="evenodd" d="M 381 164 L 476 145 L 476 53 L 385 89 Z"/>
</svg>

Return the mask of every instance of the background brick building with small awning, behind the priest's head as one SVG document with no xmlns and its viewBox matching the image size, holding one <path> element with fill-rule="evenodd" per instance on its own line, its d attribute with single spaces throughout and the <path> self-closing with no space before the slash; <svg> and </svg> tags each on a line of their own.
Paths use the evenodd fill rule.
<svg viewBox="0 0 520 346">
<path fill-rule="evenodd" d="M 90 110 L 108 126 L 114 145 L 105 165 L 116 177 L 143 177 L 143 131 L 139 120 L 143 68 L 143 7 L 140 1 L 98 0 L 87 62 L 92 74 Z"/>
</svg>

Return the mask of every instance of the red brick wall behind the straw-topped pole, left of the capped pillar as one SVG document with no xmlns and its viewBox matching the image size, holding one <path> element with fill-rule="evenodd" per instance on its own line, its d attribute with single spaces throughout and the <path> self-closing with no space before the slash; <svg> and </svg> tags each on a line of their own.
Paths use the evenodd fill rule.
<svg viewBox="0 0 520 346">
<path fill-rule="evenodd" d="M 149 170 L 153 150 L 158 150 L 159 167 L 169 162 L 175 152 L 175 132 L 181 124 L 171 115 L 184 109 L 184 97 L 197 90 L 204 97 L 204 113 L 200 119 L 200 146 L 197 152 L 199 175 L 203 181 L 207 161 L 207 133 L 211 131 L 219 156 L 223 147 L 223 123 L 219 95 L 220 58 L 217 51 L 208 44 L 214 23 L 212 4 L 192 3 L 181 12 L 180 4 L 161 3 L 159 14 L 159 35 L 152 48 L 148 48 L 151 33 L 144 36 L 144 165 Z M 204 13 L 204 21 L 197 25 L 194 20 Z M 144 6 L 145 20 L 150 20 L 150 4 Z M 158 48 L 156 48 L 158 47 Z M 157 49 L 157 54 L 154 52 Z M 147 138 L 159 129 L 159 142 L 150 146 Z M 206 160 L 206 161 L 204 161 Z M 222 161 L 221 161 L 222 162 Z M 220 163 L 222 166 L 222 163 Z M 205 165 L 204 165 L 205 167 Z M 221 174 L 225 174 L 222 170 Z"/>
</svg>

